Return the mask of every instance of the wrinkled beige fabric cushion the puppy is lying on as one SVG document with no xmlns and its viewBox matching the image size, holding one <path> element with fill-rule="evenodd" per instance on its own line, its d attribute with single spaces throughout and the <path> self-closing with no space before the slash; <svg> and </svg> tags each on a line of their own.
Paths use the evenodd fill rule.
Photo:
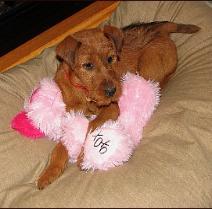
<svg viewBox="0 0 212 209">
<path fill-rule="evenodd" d="M 35 180 L 54 143 L 27 140 L 10 121 L 33 86 L 54 75 L 54 48 L 0 75 L 1 207 L 212 207 L 212 8 L 205 2 L 122 2 L 108 23 L 156 20 L 202 30 L 172 35 L 177 71 L 132 158 L 108 172 L 70 165 L 56 182 L 37 190 Z"/>
</svg>

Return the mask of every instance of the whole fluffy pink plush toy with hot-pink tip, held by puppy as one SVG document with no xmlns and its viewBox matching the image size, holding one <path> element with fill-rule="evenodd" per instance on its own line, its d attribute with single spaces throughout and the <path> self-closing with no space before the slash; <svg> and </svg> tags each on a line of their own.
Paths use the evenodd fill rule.
<svg viewBox="0 0 212 209">
<path fill-rule="evenodd" d="M 48 136 L 51 140 L 62 141 L 73 163 L 84 146 L 82 168 L 108 170 L 128 161 L 159 97 L 157 83 L 127 73 L 119 100 L 119 118 L 115 122 L 107 121 L 85 140 L 88 119 L 80 112 L 66 112 L 59 87 L 52 79 L 44 78 L 11 125 L 33 139 Z"/>
</svg>

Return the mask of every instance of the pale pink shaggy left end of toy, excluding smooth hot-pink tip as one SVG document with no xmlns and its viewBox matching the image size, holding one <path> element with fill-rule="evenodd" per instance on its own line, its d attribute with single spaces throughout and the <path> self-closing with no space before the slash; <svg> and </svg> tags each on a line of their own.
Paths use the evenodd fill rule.
<svg viewBox="0 0 212 209">
<path fill-rule="evenodd" d="M 55 141 L 62 137 L 61 123 L 65 115 L 65 104 L 54 80 L 49 78 L 41 80 L 29 99 L 25 101 L 24 109 L 33 125 L 46 136 Z"/>
</svg>

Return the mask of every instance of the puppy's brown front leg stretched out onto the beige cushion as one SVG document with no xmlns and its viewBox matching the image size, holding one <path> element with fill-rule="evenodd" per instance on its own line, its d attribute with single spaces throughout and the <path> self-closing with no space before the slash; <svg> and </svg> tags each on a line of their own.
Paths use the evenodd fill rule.
<svg viewBox="0 0 212 209">
<path fill-rule="evenodd" d="M 56 180 L 64 171 L 68 162 L 68 151 L 62 143 L 58 143 L 51 153 L 48 167 L 40 175 L 37 187 L 44 189 Z"/>
</svg>

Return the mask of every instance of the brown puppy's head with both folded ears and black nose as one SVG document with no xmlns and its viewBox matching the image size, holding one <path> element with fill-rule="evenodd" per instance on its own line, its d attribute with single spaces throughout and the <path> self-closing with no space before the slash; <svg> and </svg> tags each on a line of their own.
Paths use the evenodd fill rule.
<svg viewBox="0 0 212 209">
<path fill-rule="evenodd" d="M 98 106 L 115 102 L 121 95 L 116 69 L 123 42 L 118 28 L 80 31 L 65 38 L 56 48 L 57 56 L 69 66 L 72 76 L 88 90 L 87 100 Z"/>
</svg>

